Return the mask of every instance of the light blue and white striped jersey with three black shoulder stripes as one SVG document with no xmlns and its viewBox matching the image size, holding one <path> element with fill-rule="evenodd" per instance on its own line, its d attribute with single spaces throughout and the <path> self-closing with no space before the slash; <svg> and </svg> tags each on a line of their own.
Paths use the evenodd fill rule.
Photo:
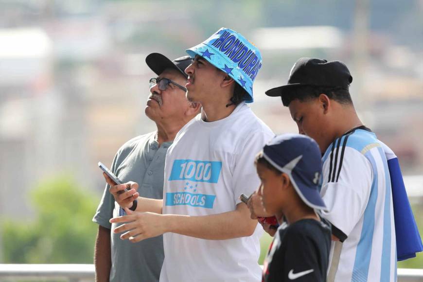
<svg viewBox="0 0 423 282">
<path fill-rule="evenodd" d="M 360 127 L 336 139 L 323 158 L 322 212 L 332 242 L 328 282 L 396 281 L 396 243 L 388 162 L 380 141 Z"/>
</svg>

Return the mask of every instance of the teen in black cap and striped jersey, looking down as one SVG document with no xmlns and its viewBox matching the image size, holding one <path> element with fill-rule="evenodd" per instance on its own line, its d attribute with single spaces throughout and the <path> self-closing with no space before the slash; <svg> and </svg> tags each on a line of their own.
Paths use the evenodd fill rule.
<svg viewBox="0 0 423 282">
<path fill-rule="evenodd" d="M 320 194 L 332 225 L 328 281 L 396 281 L 396 243 L 388 163 L 374 133 L 359 120 L 340 61 L 301 58 L 281 96 L 299 132 L 323 155 Z"/>
</svg>

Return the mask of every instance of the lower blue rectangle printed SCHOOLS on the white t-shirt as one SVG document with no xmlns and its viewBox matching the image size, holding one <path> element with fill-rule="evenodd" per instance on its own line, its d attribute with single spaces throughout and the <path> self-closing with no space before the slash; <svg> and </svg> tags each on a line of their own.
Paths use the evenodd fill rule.
<svg viewBox="0 0 423 282">
<path fill-rule="evenodd" d="M 188 205 L 212 209 L 215 195 L 192 194 L 188 192 L 166 193 L 166 206 Z"/>
</svg>

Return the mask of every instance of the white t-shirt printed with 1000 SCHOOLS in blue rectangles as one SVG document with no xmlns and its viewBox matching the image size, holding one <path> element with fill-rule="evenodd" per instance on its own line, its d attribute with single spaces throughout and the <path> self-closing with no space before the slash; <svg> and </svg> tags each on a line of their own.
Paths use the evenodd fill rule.
<svg viewBox="0 0 423 282">
<path fill-rule="evenodd" d="M 204 122 L 198 115 L 167 151 L 163 214 L 234 211 L 239 195 L 249 195 L 259 186 L 254 158 L 273 136 L 245 103 L 216 122 Z M 261 234 L 261 227 L 249 237 L 229 240 L 165 233 L 160 281 L 260 281 Z"/>
</svg>

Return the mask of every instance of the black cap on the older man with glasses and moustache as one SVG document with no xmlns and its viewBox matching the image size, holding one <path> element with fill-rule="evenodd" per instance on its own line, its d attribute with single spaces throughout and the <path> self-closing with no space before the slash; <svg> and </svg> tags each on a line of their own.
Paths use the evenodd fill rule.
<svg viewBox="0 0 423 282">
<path fill-rule="evenodd" d="M 160 53 L 151 53 L 145 57 L 145 62 L 147 63 L 147 66 L 157 75 L 160 75 L 160 73 L 166 69 L 174 69 L 188 78 L 188 74 L 185 73 L 185 69 L 191 65 L 193 59 L 190 56 L 183 56 L 171 61 L 165 55 Z"/>
</svg>

